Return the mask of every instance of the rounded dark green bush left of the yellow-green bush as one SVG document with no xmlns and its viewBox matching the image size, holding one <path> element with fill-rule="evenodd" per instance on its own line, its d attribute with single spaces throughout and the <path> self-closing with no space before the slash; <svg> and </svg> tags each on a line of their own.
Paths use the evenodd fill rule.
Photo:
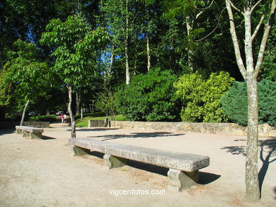
<svg viewBox="0 0 276 207">
<path fill-rule="evenodd" d="M 115 94 L 117 109 L 132 121 L 178 120 L 176 81 L 176 75 L 160 69 L 139 74 Z"/>
</svg>

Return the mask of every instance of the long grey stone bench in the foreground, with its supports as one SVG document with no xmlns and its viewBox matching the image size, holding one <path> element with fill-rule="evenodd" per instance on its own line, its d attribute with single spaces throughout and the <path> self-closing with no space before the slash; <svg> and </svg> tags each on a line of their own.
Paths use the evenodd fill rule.
<svg viewBox="0 0 276 207">
<path fill-rule="evenodd" d="M 199 179 L 198 170 L 209 166 L 209 157 L 204 155 L 176 153 L 79 138 L 69 139 L 69 144 L 74 155 L 87 155 L 91 150 L 104 153 L 103 158 L 109 169 L 122 167 L 127 164 L 127 160 L 169 168 L 168 179 L 170 184 L 168 187 L 177 191 L 196 184 Z"/>
</svg>

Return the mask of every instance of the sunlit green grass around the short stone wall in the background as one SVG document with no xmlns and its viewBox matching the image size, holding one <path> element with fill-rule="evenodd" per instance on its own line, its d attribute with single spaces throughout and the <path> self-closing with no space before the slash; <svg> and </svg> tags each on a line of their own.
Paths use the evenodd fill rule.
<svg viewBox="0 0 276 207">
<path fill-rule="evenodd" d="M 104 120 L 105 114 L 103 112 L 95 112 L 84 114 L 84 119 L 81 120 L 81 115 L 75 117 L 76 119 L 76 127 L 88 127 L 88 120 Z M 116 115 L 116 121 L 125 121 L 125 117 L 123 115 Z"/>
</svg>

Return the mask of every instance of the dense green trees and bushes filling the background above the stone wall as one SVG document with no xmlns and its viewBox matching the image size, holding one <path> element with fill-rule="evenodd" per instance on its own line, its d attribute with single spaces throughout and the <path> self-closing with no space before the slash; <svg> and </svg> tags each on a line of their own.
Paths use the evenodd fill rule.
<svg viewBox="0 0 276 207">
<path fill-rule="evenodd" d="M 232 102 L 243 104 L 243 113 L 225 105 L 226 95 L 223 107 L 219 102 L 242 76 L 225 3 L 210 2 L 178 11 L 165 1 L 1 1 L 0 119 L 20 117 L 25 107 L 26 114 L 67 112 L 71 100 L 74 114 L 100 108 L 110 119 L 246 124 L 242 95 Z M 259 78 L 270 80 L 260 83 L 267 88 L 276 80 L 275 26 L 270 33 Z M 273 124 L 268 110 L 260 122 Z"/>
</svg>

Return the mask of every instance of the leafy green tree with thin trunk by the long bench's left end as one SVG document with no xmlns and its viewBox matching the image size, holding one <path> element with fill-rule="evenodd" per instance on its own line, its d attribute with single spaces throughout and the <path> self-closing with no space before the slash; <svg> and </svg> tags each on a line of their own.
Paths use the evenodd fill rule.
<svg viewBox="0 0 276 207">
<path fill-rule="evenodd" d="M 98 50 L 106 45 L 108 33 L 103 28 L 93 30 L 83 18 L 69 16 L 67 21 L 53 19 L 47 25 L 40 42 L 55 45 L 56 57 L 51 68 L 68 89 L 68 111 L 71 117 L 71 138 L 76 138 L 74 114 L 71 110 L 72 91 L 90 84 L 97 75 L 95 62 Z"/>
</svg>

